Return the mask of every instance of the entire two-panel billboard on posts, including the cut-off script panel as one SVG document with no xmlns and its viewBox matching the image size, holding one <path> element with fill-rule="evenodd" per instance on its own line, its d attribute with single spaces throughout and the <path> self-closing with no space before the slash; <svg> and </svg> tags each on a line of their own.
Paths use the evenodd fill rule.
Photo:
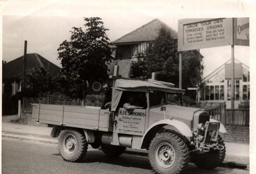
<svg viewBox="0 0 256 174">
<path fill-rule="evenodd" d="M 179 20 L 178 51 L 227 45 L 249 46 L 249 42 L 248 17 Z"/>
</svg>

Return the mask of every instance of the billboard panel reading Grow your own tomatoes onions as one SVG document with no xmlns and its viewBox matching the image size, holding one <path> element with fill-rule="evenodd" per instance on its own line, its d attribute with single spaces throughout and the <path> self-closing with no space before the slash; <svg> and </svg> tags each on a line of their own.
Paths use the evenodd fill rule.
<svg viewBox="0 0 256 174">
<path fill-rule="evenodd" d="M 179 20 L 178 51 L 232 45 L 232 23 L 232 18 Z"/>
</svg>

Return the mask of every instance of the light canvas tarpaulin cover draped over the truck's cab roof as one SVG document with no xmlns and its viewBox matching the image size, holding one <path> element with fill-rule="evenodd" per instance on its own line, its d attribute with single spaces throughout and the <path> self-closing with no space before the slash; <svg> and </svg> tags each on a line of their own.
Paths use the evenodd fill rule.
<svg viewBox="0 0 256 174">
<path fill-rule="evenodd" d="M 115 111 L 123 91 L 147 92 L 148 90 L 159 90 L 170 93 L 183 93 L 184 89 L 174 87 L 173 83 L 161 82 L 149 79 L 148 81 L 117 79 L 112 94 L 111 110 Z"/>
</svg>

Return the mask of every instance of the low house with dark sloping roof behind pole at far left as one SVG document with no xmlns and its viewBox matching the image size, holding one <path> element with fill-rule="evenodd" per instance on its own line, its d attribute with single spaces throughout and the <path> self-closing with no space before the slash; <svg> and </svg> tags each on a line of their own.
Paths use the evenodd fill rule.
<svg viewBox="0 0 256 174">
<path fill-rule="evenodd" d="M 23 56 L 7 63 L 3 61 L 2 94 L 5 93 L 5 90 L 10 90 L 11 95 L 15 95 L 16 92 L 20 90 L 21 78 L 23 77 L 24 71 L 23 67 Z M 48 69 L 52 76 L 56 76 L 60 71 L 60 67 L 54 65 L 39 54 L 27 54 L 26 72 L 32 72 L 41 67 Z M 9 87 L 5 87 L 5 85 L 8 85 Z"/>
</svg>

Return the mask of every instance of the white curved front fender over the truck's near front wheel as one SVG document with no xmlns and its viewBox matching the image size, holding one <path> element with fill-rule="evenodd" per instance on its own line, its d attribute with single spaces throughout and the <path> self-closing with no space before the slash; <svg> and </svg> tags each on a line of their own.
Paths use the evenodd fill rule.
<svg viewBox="0 0 256 174">
<path fill-rule="evenodd" d="M 155 127 L 157 127 L 158 125 L 163 125 L 162 127 L 166 126 L 166 125 L 171 125 L 172 127 L 176 128 L 176 130 L 181 133 L 181 135 L 184 135 L 185 137 L 192 137 L 192 132 L 191 129 L 187 126 L 187 124 L 178 121 L 178 120 L 170 120 L 170 119 L 165 119 L 165 120 L 160 120 L 154 124 L 152 124 L 144 133 L 144 136 L 142 137 L 142 141 L 141 141 L 141 146 L 144 142 L 144 138 L 145 136 L 147 136 L 147 134 L 149 133 L 149 131 Z"/>
</svg>

